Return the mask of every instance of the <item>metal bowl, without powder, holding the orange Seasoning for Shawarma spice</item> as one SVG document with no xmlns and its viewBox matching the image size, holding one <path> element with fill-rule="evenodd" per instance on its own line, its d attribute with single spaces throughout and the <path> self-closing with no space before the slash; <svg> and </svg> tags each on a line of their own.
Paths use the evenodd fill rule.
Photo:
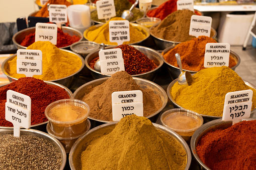
<svg viewBox="0 0 256 170">
<path fill-rule="evenodd" d="M 170 50 L 172 50 L 173 48 L 175 48 L 175 46 L 172 46 L 172 47 L 168 47 L 166 48 L 165 50 L 163 50 L 163 52 L 161 53 L 161 59 L 163 60 L 163 62 L 166 64 L 167 68 L 168 68 L 168 72 L 170 74 L 170 77 L 174 79 L 177 79 L 179 77 L 179 75 L 181 74 L 180 72 L 180 68 L 179 67 L 176 67 L 176 66 L 173 66 L 172 64 L 168 63 L 165 59 L 164 59 L 164 55 L 166 53 L 168 53 Z M 182 57 L 182 56 L 181 56 Z M 235 70 L 235 68 L 240 64 L 241 60 L 240 60 L 240 57 L 233 51 L 230 50 L 230 55 L 229 55 L 230 58 L 232 58 L 234 60 L 234 62 L 236 63 L 231 69 L 232 70 Z M 199 60 L 199 59 L 198 59 Z M 193 61 L 191 62 L 191 65 L 194 66 L 193 64 Z M 190 65 L 190 66 L 191 66 Z M 182 65 L 183 68 L 184 68 L 184 65 Z M 195 65 L 196 66 L 196 65 Z M 198 71 L 191 71 L 191 70 L 186 70 L 186 69 L 183 69 L 183 71 L 188 71 L 190 72 L 191 74 L 195 74 L 197 73 Z"/>
</svg>

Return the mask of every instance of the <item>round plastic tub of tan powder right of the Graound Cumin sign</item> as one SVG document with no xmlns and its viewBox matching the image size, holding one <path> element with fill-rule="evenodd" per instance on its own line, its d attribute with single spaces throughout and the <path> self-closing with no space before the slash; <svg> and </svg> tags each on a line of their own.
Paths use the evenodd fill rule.
<svg viewBox="0 0 256 170">
<path fill-rule="evenodd" d="M 189 141 L 193 133 L 202 126 L 203 117 L 187 109 L 170 109 L 160 117 L 161 123 L 180 134 L 186 141 Z"/>
</svg>

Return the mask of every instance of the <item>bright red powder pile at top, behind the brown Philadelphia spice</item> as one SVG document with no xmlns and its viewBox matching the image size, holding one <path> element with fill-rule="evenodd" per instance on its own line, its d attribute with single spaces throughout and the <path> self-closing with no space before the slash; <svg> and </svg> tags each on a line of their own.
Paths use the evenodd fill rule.
<svg viewBox="0 0 256 170">
<path fill-rule="evenodd" d="M 178 0 L 169 0 L 161 4 L 158 8 L 150 10 L 147 12 L 147 17 L 155 17 L 163 20 L 169 14 L 177 11 L 177 1 Z M 196 15 L 201 16 L 197 11 L 194 12 Z"/>
</svg>

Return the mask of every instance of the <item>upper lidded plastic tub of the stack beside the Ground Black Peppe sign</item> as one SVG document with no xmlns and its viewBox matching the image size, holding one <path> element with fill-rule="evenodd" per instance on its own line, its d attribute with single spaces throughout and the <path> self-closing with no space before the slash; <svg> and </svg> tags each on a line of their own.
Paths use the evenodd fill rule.
<svg viewBox="0 0 256 170">
<path fill-rule="evenodd" d="M 45 109 L 45 116 L 49 120 L 48 132 L 61 138 L 77 137 L 88 128 L 89 112 L 89 105 L 81 100 L 52 102 Z"/>
</svg>

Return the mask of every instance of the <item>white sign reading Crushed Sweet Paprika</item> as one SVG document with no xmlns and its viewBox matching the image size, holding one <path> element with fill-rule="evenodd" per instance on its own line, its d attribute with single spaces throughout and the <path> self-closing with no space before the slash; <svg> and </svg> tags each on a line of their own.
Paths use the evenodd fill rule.
<svg viewBox="0 0 256 170">
<path fill-rule="evenodd" d="M 109 40 L 122 45 L 123 42 L 130 41 L 130 25 L 128 20 L 109 22 Z"/>
</svg>

